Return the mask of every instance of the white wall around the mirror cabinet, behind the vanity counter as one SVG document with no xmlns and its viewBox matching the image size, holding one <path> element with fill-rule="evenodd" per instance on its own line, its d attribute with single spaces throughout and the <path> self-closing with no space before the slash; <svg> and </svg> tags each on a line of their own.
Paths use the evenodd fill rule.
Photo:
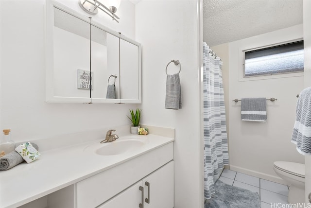
<svg viewBox="0 0 311 208">
<path fill-rule="evenodd" d="M 83 13 L 76 0 L 59 1 Z M 93 129 L 104 137 L 112 126 L 130 126 L 128 109 L 140 105 L 45 103 L 45 0 L 0 0 L 0 9 L 0 130 L 25 141 Z M 120 23 L 94 19 L 135 37 L 135 5 L 122 1 L 119 13 Z"/>
</svg>

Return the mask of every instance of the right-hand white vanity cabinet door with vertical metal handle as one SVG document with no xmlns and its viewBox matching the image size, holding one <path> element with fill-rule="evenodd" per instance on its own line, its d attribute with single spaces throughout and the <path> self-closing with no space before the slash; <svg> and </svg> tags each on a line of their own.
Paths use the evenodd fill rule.
<svg viewBox="0 0 311 208">
<path fill-rule="evenodd" d="M 171 161 L 143 179 L 144 208 L 174 207 L 174 162 Z M 149 194 L 148 194 L 149 192 Z"/>
</svg>

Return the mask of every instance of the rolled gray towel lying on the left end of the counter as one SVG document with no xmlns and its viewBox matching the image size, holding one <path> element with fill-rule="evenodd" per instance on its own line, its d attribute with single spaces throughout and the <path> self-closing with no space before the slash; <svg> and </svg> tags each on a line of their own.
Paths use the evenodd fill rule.
<svg viewBox="0 0 311 208">
<path fill-rule="evenodd" d="M 38 145 L 31 143 L 36 150 L 39 150 Z M 6 171 L 19 163 L 25 161 L 16 151 L 10 152 L 9 154 L 0 157 L 0 171 Z"/>
</svg>

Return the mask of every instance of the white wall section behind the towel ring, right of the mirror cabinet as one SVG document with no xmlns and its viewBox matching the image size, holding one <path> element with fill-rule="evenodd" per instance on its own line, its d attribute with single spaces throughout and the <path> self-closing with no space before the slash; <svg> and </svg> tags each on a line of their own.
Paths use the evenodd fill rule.
<svg viewBox="0 0 311 208">
<path fill-rule="evenodd" d="M 142 123 L 175 128 L 175 208 L 204 204 L 198 30 L 196 0 L 142 0 L 136 6 L 136 35 L 142 43 Z M 182 109 L 178 110 L 164 109 L 165 68 L 172 59 L 181 63 Z M 179 69 L 169 67 L 171 73 Z"/>
</svg>

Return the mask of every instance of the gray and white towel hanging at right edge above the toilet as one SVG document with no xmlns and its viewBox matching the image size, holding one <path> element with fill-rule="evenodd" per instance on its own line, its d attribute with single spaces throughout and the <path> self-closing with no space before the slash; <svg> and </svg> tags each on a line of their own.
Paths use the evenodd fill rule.
<svg viewBox="0 0 311 208">
<path fill-rule="evenodd" d="M 311 155 L 311 87 L 302 90 L 296 106 L 292 142 L 302 155 Z"/>
</svg>

